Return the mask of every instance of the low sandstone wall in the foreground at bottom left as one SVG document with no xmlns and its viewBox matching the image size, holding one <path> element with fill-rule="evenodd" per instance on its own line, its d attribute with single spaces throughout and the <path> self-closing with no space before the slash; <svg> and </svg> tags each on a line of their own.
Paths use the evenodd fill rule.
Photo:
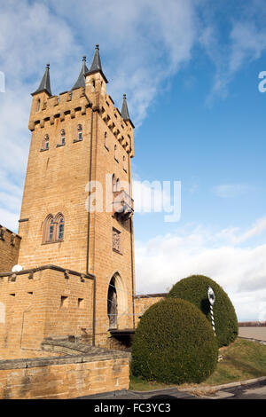
<svg viewBox="0 0 266 417">
<path fill-rule="evenodd" d="M 129 389 L 129 353 L 0 361 L 0 398 L 74 398 Z"/>
</svg>

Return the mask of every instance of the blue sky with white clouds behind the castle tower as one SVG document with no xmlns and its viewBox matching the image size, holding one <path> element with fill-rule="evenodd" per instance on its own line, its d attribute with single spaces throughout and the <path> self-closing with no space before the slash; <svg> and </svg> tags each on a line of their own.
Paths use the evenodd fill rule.
<svg viewBox="0 0 266 417">
<path fill-rule="evenodd" d="M 0 0 L 0 224 L 17 230 L 30 93 L 69 90 L 99 43 L 137 126 L 137 181 L 181 181 L 181 217 L 136 213 L 137 291 L 203 273 L 239 319 L 266 319 L 265 0 Z M 1 85 L 1 84 L 0 84 Z M 142 186 L 142 189 L 145 189 Z"/>
</svg>

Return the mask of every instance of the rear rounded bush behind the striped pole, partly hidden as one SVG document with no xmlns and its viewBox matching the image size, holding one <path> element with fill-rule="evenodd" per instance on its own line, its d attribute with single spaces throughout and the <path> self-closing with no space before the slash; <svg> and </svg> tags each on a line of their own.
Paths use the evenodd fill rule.
<svg viewBox="0 0 266 417">
<path fill-rule="evenodd" d="M 229 296 L 213 279 L 204 275 L 192 275 L 181 279 L 169 291 L 168 297 L 182 298 L 196 305 L 211 322 L 208 287 L 212 287 L 215 292 L 213 310 L 218 346 L 227 346 L 234 342 L 239 334 L 238 318 Z"/>
</svg>

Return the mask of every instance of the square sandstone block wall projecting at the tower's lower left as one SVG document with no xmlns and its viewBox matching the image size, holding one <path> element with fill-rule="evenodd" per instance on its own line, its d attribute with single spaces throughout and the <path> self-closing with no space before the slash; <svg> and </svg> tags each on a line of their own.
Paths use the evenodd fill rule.
<svg viewBox="0 0 266 417">
<path fill-rule="evenodd" d="M 93 280 L 88 276 L 52 265 L 0 276 L 0 359 L 38 356 L 45 337 L 91 341 L 92 319 Z"/>
</svg>

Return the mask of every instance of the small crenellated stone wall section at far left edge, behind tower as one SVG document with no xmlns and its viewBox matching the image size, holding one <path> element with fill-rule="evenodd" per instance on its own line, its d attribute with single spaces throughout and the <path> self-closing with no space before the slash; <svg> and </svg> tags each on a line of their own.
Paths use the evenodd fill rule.
<svg viewBox="0 0 266 417">
<path fill-rule="evenodd" d="M 11 271 L 18 264 L 20 236 L 0 224 L 0 272 Z"/>
</svg>

